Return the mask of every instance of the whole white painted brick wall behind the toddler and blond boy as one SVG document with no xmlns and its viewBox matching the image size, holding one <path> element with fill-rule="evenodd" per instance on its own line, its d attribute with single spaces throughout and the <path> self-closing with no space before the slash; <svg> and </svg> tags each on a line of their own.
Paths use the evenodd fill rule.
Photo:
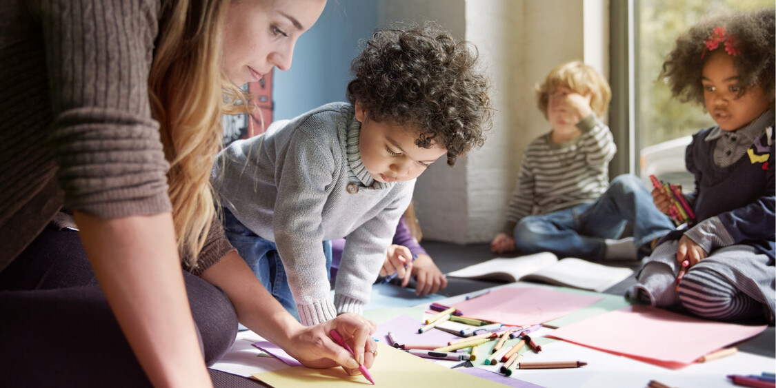
<svg viewBox="0 0 776 388">
<path fill-rule="evenodd" d="M 414 200 L 425 238 L 476 243 L 501 230 L 525 147 L 549 130 L 535 107 L 533 87 L 566 61 L 593 60 L 605 67 L 605 12 L 607 0 L 380 2 L 381 26 L 435 20 L 476 44 L 494 86 L 498 112 L 485 146 L 460 158 L 455 168 L 435 166 L 418 178 Z"/>
</svg>

